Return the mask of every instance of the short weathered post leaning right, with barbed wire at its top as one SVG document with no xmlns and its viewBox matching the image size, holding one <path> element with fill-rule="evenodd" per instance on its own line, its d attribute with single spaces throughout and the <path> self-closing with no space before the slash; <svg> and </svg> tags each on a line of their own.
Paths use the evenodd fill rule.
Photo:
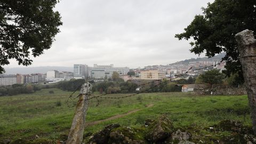
<svg viewBox="0 0 256 144">
<path fill-rule="evenodd" d="M 67 144 L 81 144 L 83 141 L 83 132 L 85 127 L 85 116 L 88 109 L 89 94 L 92 90 L 92 84 L 85 83 L 81 87 L 79 100 L 76 106 L 73 123 L 68 133 Z"/>
</svg>

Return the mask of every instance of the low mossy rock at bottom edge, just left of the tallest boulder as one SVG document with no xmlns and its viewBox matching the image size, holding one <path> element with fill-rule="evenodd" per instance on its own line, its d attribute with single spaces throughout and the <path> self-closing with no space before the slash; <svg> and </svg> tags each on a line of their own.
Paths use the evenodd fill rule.
<svg viewBox="0 0 256 144">
<path fill-rule="evenodd" d="M 145 132 L 146 130 L 143 127 L 117 127 L 111 130 L 108 143 L 146 143 Z"/>
</svg>

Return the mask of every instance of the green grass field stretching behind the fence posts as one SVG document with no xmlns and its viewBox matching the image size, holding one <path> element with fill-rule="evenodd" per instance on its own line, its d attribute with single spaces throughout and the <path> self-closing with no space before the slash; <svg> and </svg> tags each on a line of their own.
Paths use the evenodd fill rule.
<svg viewBox="0 0 256 144">
<path fill-rule="evenodd" d="M 49 94 L 53 90 L 54 94 Z M 0 97 L 0 140 L 39 137 L 57 140 L 61 134 L 68 134 L 73 119 L 74 108 L 66 105 L 71 92 L 59 89 L 42 89 L 33 94 L 20 94 Z M 77 93 L 74 94 L 75 96 Z M 125 94 L 111 94 L 121 97 Z M 76 101 L 71 102 L 71 104 Z M 110 123 L 121 125 L 141 125 L 145 119 L 155 119 L 159 115 L 169 116 L 175 126 L 209 126 L 222 119 L 238 119 L 250 125 L 247 96 L 195 96 L 191 93 L 143 93 L 119 100 L 99 99 L 90 101 L 86 116 L 87 122 L 105 119 L 130 110 L 141 109 L 136 113 L 102 122 L 85 128 L 95 132 Z M 149 104 L 153 107 L 147 108 Z"/>
</svg>

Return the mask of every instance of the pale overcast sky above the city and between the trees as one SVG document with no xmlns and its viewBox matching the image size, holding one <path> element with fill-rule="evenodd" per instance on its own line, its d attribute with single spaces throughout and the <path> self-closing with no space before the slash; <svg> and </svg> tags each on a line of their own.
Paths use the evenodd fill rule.
<svg viewBox="0 0 256 144">
<path fill-rule="evenodd" d="M 197 58 L 188 41 L 178 41 L 196 14 L 212 0 L 62 0 L 61 32 L 33 65 L 144 67 Z M 7 67 L 18 66 L 11 61 Z"/>
</svg>

